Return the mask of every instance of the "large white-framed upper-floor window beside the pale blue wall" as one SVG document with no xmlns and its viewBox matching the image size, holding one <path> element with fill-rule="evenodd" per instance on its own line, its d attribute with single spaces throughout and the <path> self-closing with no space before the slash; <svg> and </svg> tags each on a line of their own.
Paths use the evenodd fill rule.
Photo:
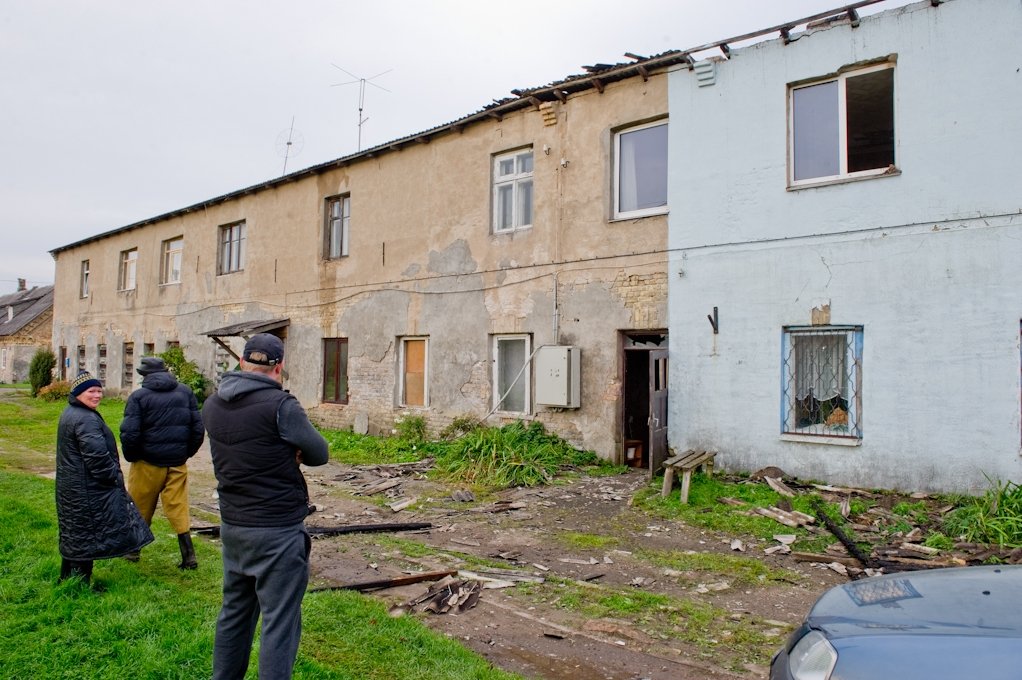
<svg viewBox="0 0 1022 680">
<path fill-rule="evenodd" d="M 614 217 L 665 213 L 667 123 L 650 123 L 614 135 Z"/>
</svg>

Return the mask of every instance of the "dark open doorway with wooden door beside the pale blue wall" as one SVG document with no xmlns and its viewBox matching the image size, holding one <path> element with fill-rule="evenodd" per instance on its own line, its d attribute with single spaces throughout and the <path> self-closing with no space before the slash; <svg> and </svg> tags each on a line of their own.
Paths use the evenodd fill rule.
<svg viewBox="0 0 1022 680">
<path fill-rule="evenodd" d="M 667 453 L 667 332 L 623 332 L 620 462 L 655 473 Z"/>
</svg>

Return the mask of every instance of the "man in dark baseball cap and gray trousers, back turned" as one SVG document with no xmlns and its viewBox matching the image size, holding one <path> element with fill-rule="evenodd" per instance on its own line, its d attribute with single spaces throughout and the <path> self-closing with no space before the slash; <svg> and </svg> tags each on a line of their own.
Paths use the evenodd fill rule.
<svg viewBox="0 0 1022 680">
<path fill-rule="evenodd" d="M 283 363 L 279 337 L 252 335 L 241 370 L 224 375 L 202 407 L 224 550 L 214 680 L 244 678 L 261 613 L 260 677 L 290 678 L 298 652 L 312 550 L 299 465 L 322 465 L 329 452 L 301 405 L 282 389 Z"/>
</svg>

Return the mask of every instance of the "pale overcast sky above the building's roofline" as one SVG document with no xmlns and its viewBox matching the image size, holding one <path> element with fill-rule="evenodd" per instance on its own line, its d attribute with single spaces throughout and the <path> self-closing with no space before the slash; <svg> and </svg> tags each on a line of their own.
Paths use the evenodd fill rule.
<svg viewBox="0 0 1022 680">
<path fill-rule="evenodd" d="M 3 0 L 0 294 L 52 283 L 55 247 L 279 177 L 292 120 L 288 172 L 356 152 L 360 79 L 364 149 L 851 1 Z"/>
</svg>

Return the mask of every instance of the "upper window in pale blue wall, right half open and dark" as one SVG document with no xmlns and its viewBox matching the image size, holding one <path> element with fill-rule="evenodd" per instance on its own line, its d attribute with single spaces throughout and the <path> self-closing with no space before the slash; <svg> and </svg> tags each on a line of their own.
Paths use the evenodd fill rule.
<svg viewBox="0 0 1022 680">
<path fill-rule="evenodd" d="M 791 181 L 879 175 L 894 165 L 894 69 L 791 88 Z"/>
</svg>

